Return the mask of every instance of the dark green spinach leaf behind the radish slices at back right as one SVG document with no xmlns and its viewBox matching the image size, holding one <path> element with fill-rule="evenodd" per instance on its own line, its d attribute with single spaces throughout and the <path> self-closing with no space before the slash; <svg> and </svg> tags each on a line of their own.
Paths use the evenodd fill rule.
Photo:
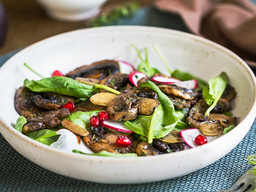
<svg viewBox="0 0 256 192">
<path fill-rule="evenodd" d="M 198 89 L 203 89 L 204 86 L 207 85 L 207 82 L 205 82 L 204 80 L 200 79 L 199 77 L 194 76 L 194 75 L 192 75 L 190 73 L 187 73 L 187 72 L 180 71 L 178 69 L 173 71 L 172 77 L 180 79 L 181 81 L 188 81 L 188 80 L 191 80 L 191 79 L 196 79 L 196 81 L 197 81 L 197 88 Z"/>
</svg>

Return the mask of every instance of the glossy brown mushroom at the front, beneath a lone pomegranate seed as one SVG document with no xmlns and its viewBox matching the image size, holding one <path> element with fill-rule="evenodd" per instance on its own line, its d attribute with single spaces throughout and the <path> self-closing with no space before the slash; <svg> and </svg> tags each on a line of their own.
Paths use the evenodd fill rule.
<svg viewBox="0 0 256 192">
<path fill-rule="evenodd" d="M 116 139 L 120 136 L 126 136 L 132 144 L 128 147 L 120 147 L 116 145 Z M 95 153 L 106 150 L 111 153 L 135 153 L 135 148 L 138 144 L 136 137 L 129 133 L 111 132 L 108 133 L 102 127 L 92 127 L 90 134 L 83 137 L 86 145 Z"/>
</svg>

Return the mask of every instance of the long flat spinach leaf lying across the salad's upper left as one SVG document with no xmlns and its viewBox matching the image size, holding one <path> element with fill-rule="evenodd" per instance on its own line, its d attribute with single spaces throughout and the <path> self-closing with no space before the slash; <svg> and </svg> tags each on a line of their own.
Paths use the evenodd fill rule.
<svg viewBox="0 0 256 192">
<path fill-rule="evenodd" d="M 76 98 L 89 98 L 97 92 L 93 85 L 84 84 L 64 76 L 53 76 L 38 81 L 25 79 L 24 85 L 34 92 L 54 92 Z"/>
</svg>

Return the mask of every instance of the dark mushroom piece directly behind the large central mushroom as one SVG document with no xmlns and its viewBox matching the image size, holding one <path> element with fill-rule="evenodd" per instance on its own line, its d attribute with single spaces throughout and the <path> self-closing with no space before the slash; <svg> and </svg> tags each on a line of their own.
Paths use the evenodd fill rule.
<svg viewBox="0 0 256 192">
<path fill-rule="evenodd" d="M 118 91 L 124 91 L 126 85 L 130 83 L 128 75 L 124 73 L 115 73 L 100 80 L 100 84 L 107 85 Z M 100 92 L 106 92 L 106 90 L 100 89 Z"/>
</svg>

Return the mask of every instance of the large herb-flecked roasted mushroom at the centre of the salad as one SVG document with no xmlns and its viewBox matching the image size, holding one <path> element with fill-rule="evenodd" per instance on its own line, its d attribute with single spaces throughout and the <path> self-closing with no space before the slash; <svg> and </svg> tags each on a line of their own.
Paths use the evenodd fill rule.
<svg viewBox="0 0 256 192">
<path fill-rule="evenodd" d="M 107 112 L 113 121 L 129 121 L 138 114 L 150 115 L 160 105 L 157 93 L 149 88 L 132 87 L 116 96 Z"/>
</svg>

